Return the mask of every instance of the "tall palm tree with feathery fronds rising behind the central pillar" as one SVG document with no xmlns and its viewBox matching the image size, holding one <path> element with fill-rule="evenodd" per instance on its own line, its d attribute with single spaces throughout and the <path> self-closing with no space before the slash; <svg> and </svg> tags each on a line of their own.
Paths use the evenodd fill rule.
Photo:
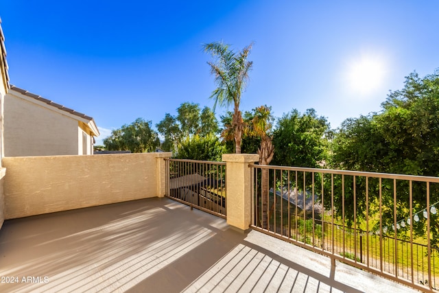
<svg viewBox="0 0 439 293">
<path fill-rule="evenodd" d="M 247 86 L 248 72 L 253 64 L 252 61 L 247 60 L 252 45 L 251 43 L 239 52 L 230 50 L 230 45 L 222 42 L 203 45 L 204 51 L 211 53 L 214 58 L 213 62 L 207 62 L 211 66 L 211 73 L 215 75 L 215 84 L 217 84 L 217 89 L 211 95 L 211 99 L 215 100 L 213 110 L 217 104 L 219 106 L 233 104 L 234 107 L 231 126 L 237 154 L 241 154 L 241 140 L 244 132 L 244 121 L 239 110 L 239 103 L 241 93 Z"/>
</svg>

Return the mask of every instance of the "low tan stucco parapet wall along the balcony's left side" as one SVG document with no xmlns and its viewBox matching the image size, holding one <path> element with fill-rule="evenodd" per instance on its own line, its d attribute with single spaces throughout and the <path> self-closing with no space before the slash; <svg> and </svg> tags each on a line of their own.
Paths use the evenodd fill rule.
<svg viewBox="0 0 439 293">
<path fill-rule="evenodd" d="M 164 196 L 163 158 L 170 156 L 5 157 L 5 219 Z"/>
</svg>

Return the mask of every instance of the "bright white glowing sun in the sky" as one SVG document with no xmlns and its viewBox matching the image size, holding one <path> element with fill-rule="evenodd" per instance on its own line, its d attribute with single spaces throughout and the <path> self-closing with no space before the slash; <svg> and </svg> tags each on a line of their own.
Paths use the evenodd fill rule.
<svg viewBox="0 0 439 293">
<path fill-rule="evenodd" d="M 348 63 L 346 75 L 351 91 L 367 95 L 382 86 L 385 78 L 385 64 L 381 58 L 361 56 Z"/>
</svg>

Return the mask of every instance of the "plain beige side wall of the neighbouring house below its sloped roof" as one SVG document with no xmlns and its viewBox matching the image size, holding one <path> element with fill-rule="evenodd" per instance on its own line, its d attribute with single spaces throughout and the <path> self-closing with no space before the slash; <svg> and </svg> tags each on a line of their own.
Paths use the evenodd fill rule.
<svg viewBox="0 0 439 293">
<path fill-rule="evenodd" d="M 21 94 L 4 100 L 4 155 L 78 154 L 78 121 L 29 102 Z"/>
</svg>

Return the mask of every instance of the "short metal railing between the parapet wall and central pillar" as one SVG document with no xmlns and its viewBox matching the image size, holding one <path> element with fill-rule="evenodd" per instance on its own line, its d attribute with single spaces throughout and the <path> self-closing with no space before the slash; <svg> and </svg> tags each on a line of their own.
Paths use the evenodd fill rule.
<svg viewBox="0 0 439 293">
<path fill-rule="evenodd" d="M 166 159 L 166 196 L 226 218 L 226 163 Z"/>
</svg>

